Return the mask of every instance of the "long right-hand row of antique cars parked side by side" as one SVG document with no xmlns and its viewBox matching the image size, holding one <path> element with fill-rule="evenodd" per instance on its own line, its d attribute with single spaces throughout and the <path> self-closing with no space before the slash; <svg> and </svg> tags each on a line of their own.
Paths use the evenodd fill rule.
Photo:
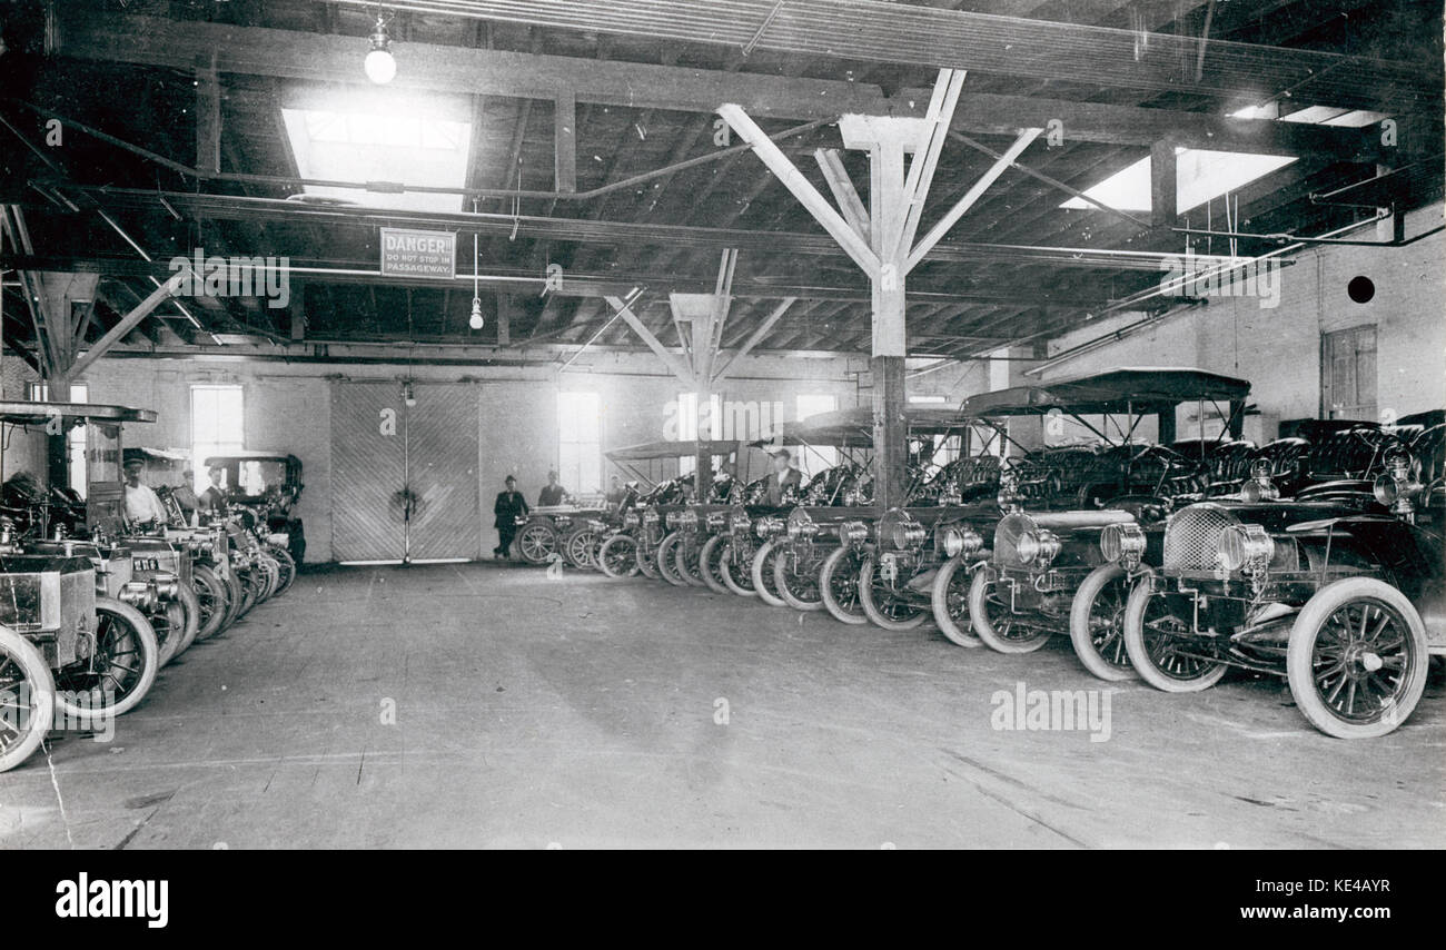
<svg viewBox="0 0 1446 950">
<path fill-rule="evenodd" d="M 545 555 L 821 610 L 888 630 L 937 626 L 960 646 L 1027 654 L 1069 636 L 1105 681 L 1205 690 L 1232 668 L 1283 677 L 1319 730 L 1371 737 L 1416 709 L 1446 655 L 1443 412 L 1322 421 L 1244 441 L 1245 380 L 1119 369 L 907 411 L 905 503 L 873 505 L 856 457 L 766 505 L 766 480 L 720 476 L 706 497 L 668 479 L 607 510 L 534 516 Z M 1138 438 L 1177 409 L 1218 437 Z M 1192 416 L 1193 414 L 1193 416 Z M 1034 431 L 1087 442 L 1019 444 Z M 870 447 L 868 409 L 782 434 Z M 1150 427 L 1144 427 L 1148 429 Z M 1035 440 L 1048 442 L 1050 440 Z M 706 447 L 719 455 L 726 444 Z M 622 458 L 677 458 L 678 442 Z M 856 453 L 857 454 L 857 453 Z M 619 461 L 615 457 L 615 461 Z"/>
</svg>

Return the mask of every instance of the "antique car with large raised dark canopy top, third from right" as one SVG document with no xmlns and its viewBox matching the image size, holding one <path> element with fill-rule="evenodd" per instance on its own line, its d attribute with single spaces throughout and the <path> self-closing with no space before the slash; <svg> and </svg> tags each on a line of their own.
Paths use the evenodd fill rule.
<svg viewBox="0 0 1446 950">
<path fill-rule="evenodd" d="M 946 565 L 936 578 L 936 619 L 946 635 L 972 630 L 999 652 L 1019 654 L 1069 630 L 1074 591 L 1103 561 L 1100 532 L 1158 521 L 1207 490 L 1205 444 L 1186 457 L 1141 441 L 1145 421 L 1154 416 L 1154 435 L 1174 442 L 1177 408 L 1194 403 L 1199 419 L 1219 419 L 1233 441 L 1248 395 L 1245 380 L 1205 370 L 1116 369 L 966 401 L 966 412 L 1034 416 L 1056 435 L 1073 425 L 1098 441 L 1006 463 L 999 521 L 982 532 L 988 557 Z M 1095 639 L 1076 641 L 1080 661 L 1128 678 L 1116 643 L 1103 638 L 1096 629 Z"/>
</svg>

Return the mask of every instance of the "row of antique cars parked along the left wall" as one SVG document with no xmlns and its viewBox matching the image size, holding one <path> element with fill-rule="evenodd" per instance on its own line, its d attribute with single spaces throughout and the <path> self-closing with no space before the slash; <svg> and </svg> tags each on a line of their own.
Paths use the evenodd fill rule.
<svg viewBox="0 0 1446 950">
<path fill-rule="evenodd" d="M 226 512 L 188 519 L 162 492 L 168 523 L 126 522 L 120 427 L 150 421 L 123 406 L 0 403 L 6 427 L 85 425 L 90 476 L 84 500 L 27 477 L 0 493 L 0 772 L 52 732 L 107 730 L 187 649 L 295 581 L 296 539 L 276 525 L 299 495 L 299 463 L 295 484 Z"/>
</svg>

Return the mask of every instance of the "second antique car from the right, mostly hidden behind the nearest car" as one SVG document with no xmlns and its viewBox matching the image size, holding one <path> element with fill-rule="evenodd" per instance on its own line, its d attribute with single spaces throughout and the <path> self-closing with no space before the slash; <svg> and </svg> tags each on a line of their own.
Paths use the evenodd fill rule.
<svg viewBox="0 0 1446 950">
<path fill-rule="evenodd" d="M 1228 440 L 1222 429 L 1215 440 L 1177 442 L 1190 458 L 1202 458 L 1205 468 L 1199 499 L 1210 497 L 1259 502 L 1277 499 L 1283 492 L 1294 496 L 1316 495 L 1365 497 L 1368 477 L 1384 470 L 1384 448 L 1417 437 L 1424 427 L 1407 422 L 1384 428 L 1374 422 L 1329 421 L 1322 425 L 1296 427 L 1300 435 L 1277 438 L 1261 447 Z M 1246 476 L 1242 479 L 1241 471 Z M 1281 486 L 1285 486 L 1284 489 Z M 1320 487 L 1312 487 L 1320 486 Z M 1174 502 L 1192 500 L 1187 495 Z M 1125 604 L 1137 581 L 1158 571 L 1164 558 L 1165 521 L 1160 512 L 1138 519 L 1135 525 L 1115 525 L 1099 535 L 1100 560 L 1084 578 L 1070 603 L 1070 639 L 1086 668 L 1103 680 L 1128 680 L 1135 672 L 1125 651 Z"/>
</svg>

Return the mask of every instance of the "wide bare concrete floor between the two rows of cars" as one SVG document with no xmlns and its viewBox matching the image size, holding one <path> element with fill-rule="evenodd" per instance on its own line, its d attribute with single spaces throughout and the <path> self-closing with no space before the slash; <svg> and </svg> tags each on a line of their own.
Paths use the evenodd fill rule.
<svg viewBox="0 0 1446 950">
<path fill-rule="evenodd" d="M 0 849 L 1446 846 L 1439 671 L 1353 743 L 1246 678 L 1125 684 L 1108 742 L 993 729 L 1021 681 L 1102 685 L 1064 639 L 1004 656 L 643 580 L 338 568 L 194 648 L 113 742 L 0 775 Z"/>
</svg>

